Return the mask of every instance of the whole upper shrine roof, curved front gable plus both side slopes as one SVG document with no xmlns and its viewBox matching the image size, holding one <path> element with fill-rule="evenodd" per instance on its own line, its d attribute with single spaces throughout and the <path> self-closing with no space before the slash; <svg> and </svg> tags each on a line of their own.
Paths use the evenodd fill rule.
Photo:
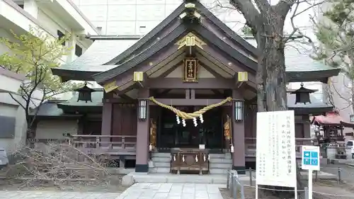
<svg viewBox="0 0 354 199">
<path fill-rule="evenodd" d="M 257 49 L 256 40 L 248 36 L 242 38 L 231 28 L 214 16 L 198 1 L 193 1 L 196 11 L 202 16 L 200 23 L 189 24 L 180 18 L 185 11 L 185 3 L 181 4 L 152 29 L 147 35 L 137 40 L 136 37 L 122 38 L 99 37 L 93 45 L 78 57 L 74 62 L 53 68 L 55 75 L 61 76 L 62 81 L 86 80 L 101 83 L 127 72 L 153 55 L 166 50 L 166 47 L 180 39 L 186 33 L 193 32 L 208 40 L 212 47 L 229 54 L 236 62 L 249 67 L 256 72 Z M 221 30 L 222 33 L 216 33 Z M 221 35 L 221 36 L 220 36 Z M 220 39 L 221 37 L 222 39 Z M 239 50 L 230 48 L 226 40 L 239 47 Z M 285 64 L 288 81 L 322 81 L 327 82 L 330 76 L 336 76 L 340 69 L 327 66 L 309 57 L 309 51 L 303 45 L 291 44 L 285 48 Z M 226 50 L 230 48 L 229 50 Z M 251 57 L 255 59 L 251 59 Z"/>
</svg>

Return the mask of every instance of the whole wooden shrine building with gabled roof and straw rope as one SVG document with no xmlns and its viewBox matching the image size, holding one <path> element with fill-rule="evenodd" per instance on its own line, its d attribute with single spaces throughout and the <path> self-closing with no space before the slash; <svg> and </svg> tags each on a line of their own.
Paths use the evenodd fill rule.
<svg viewBox="0 0 354 199">
<path fill-rule="evenodd" d="M 258 59 L 253 38 L 241 38 L 192 0 L 139 40 L 89 38 L 94 42 L 84 55 L 52 72 L 62 81 L 96 81 L 103 89 L 88 84 L 69 101 L 44 103 L 36 140 L 68 136 L 75 147 L 108 154 L 120 167 L 133 164 L 136 172 L 243 174 L 253 166 Z M 297 50 L 286 50 L 285 59 L 288 82 L 326 83 L 339 72 Z M 333 107 L 312 94 L 309 103 L 295 104 L 297 94 L 291 92 L 297 92 L 288 92 L 301 146 L 309 142 L 309 115 Z"/>
</svg>

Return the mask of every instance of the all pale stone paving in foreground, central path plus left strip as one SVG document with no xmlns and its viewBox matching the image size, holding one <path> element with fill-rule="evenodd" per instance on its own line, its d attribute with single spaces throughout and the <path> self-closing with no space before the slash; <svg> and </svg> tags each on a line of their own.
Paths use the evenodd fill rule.
<svg viewBox="0 0 354 199">
<path fill-rule="evenodd" d="M 123 193 L 0 191 L 0 199 L 222 199 L 219 188 L 203 183 L 135 183 Z"/>
</svg>

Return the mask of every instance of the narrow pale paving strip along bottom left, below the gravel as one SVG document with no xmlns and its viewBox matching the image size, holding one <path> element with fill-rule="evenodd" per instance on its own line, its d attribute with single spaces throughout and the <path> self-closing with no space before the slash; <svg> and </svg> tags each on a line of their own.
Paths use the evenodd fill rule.
<svg viewBox="0 0 354 199">
<path fill-rule="evenodd" d="M 115 199 L 119 193 L 0 191 L 0 199 Z"/>
</svg>

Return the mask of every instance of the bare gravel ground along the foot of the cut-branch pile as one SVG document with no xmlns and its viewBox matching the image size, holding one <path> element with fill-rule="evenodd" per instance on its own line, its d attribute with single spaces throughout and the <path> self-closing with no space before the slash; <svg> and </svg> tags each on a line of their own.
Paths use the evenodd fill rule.
<svg viewBox="0 0 354 199">
<path fill-rule="evenodd" d="M 1 191 L 82 191 L 122 193 L 126 187 L 121 185 L 122 175 L 111 175 L 101 183 L 70 182 L 66 185 L 55 186 L 52 183 L 20 183 L 19 181 L 0 180 Z"/>
</svg>

